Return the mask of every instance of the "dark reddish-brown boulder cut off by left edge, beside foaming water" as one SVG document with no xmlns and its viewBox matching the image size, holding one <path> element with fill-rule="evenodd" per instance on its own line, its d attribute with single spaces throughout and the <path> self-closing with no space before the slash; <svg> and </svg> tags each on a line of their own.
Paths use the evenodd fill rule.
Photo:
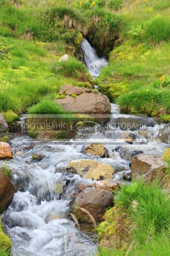
<svg viewBox="0 0 170 256">
<path fill-rule="evenodd" d="M 0 168 L 0 212 L 7 209 L 14 197 L 14 185 Z"/>
</svg>

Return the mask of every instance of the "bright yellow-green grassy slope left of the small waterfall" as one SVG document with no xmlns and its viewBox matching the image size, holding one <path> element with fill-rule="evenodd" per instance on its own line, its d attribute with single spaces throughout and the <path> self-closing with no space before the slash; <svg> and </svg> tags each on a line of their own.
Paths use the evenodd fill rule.
<svg viewBox="0 0 170 256">
<path fill-rule="evenodd" d="M 0 37 L 0 111 L 25 112 L 46 95 L 58 93 L 61 85 L 77 84 L 73 77 L 51 73 L 52 63 L 64 53 L 58 55 L 56 46 Z"/>
</svg>

